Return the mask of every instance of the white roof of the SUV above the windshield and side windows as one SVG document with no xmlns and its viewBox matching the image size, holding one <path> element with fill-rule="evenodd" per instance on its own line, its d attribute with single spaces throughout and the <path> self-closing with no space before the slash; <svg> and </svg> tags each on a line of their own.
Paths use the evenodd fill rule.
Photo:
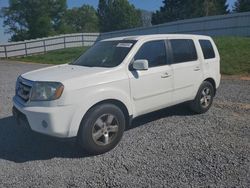
<svg viewBox="0 0 250 188">
<path fill-rule="evenodd" d="M 134 36 L 124 36 L 108 38 L 102 41 L 115 41 L 115 40 L 151 40 L 158 38 L 200 38 L 200 39 L 210 39 L 209 36 L 205 35 L 192 35 L 192 34 L 154 34 L 154 35 L 134 35 Z"/>
</svg>

